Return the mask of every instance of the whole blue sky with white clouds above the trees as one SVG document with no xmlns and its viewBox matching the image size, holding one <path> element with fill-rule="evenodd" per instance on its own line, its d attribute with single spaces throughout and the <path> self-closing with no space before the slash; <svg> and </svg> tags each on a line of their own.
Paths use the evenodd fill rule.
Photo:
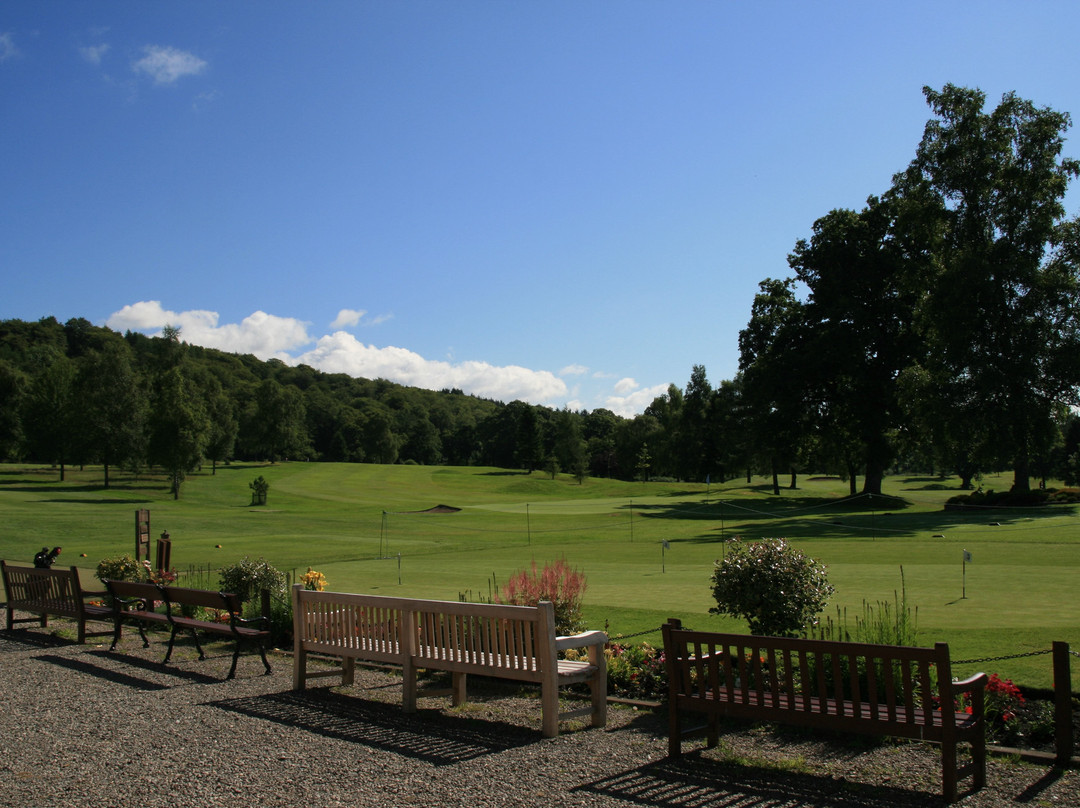
<svg viewBox="0 0 1080 808">
<path fill-rule="evenodd" d="M 13 0 L 0 319 L 630 416 L 734 376 L 758 282 L 888 188 L 923 85 L 1080 115 L 1077 30 L 1075 2 Z"/>
</svg>

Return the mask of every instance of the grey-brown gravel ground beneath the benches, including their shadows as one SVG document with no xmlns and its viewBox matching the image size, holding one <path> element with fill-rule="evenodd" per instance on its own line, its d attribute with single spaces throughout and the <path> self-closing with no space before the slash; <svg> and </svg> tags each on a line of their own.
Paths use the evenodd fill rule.
<svg viewBox="0 0 1080 808">
<path fill-rule="evenodd" d="M 401 711 L 400 678 L 357 669 L 350 688 L 293 692 L 292 660 L 125 636 L 120 654 L 44 630 L 0 632 L 0 806 L 927 806 L 936 750 L 731 728 L 666 758 L 663 711 L 612 708 L 605 730 L 540 738 L 535 692 L 472 683 L 451 710 Z M 327 679 L 325 682 L 333 682 Z M 990 758 L 962 806 L 1080 806 L 1080 772 Z"/>
</svg>

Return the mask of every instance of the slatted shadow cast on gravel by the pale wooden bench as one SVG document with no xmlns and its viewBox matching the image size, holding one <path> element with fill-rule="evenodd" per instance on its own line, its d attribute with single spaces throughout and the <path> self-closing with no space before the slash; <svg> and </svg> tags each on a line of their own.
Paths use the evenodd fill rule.
<svg viewBox="0 0 1080 808">
<path fill-rule="evenodd" d="M 325 688 L 287 690 L 208 703 L 254 718 L 336 738 L 365 746 L 449 766 L 497 754 L 538 741 L 538 735 L 485 719 L 409 715 L 401 705 L 384 704 L 333 692 Z"/>
</svg>

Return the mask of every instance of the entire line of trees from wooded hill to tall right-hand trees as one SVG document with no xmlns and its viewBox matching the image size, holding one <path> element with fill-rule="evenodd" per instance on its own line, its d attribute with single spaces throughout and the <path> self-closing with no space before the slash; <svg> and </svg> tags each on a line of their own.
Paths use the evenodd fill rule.
<svg viewBox="0 0 1080 808">
<path fill-rule="evenodd" d="M 835 210 L 766 279 L 715 387 L 694 365 L 646 410 L 553 409 L 118 334 L 0 322 L 0 458 L 162 469 L 309 459 L 723 482 L 801 472 L 880 493 L 890 470 L 1080 481 L 1080 219 L 1067 113 L 923 90 L 892 186 Z"/>
</svg>

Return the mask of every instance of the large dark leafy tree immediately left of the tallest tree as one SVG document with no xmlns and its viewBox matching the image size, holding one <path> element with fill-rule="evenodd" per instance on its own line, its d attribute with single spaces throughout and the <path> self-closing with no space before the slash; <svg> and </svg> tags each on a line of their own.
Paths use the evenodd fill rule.
<svg viewBox="0 0 1080 808">
<path fill-rule="evenodd" d="M 912 321 L 924 287 L 924 242 L 901 231 L 896 198 L 872 198 L 854 211 L 814 223 L 810 241 L 789 256 L 809 289 L 804 381 L 826 446 L 849 473 L 862 468 L 863 491 L 880 494 L 900 426 L 896 379 L 918 339 Z"/>
</svg>

